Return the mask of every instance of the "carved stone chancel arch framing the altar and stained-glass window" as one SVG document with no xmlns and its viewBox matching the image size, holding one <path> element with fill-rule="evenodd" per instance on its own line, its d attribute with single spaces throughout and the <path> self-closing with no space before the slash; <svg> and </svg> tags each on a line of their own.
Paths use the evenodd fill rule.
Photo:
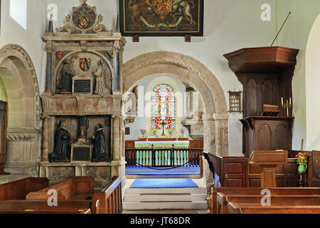
<svg viewBox="0 0 320 228">
<path fill-rule="evenodd" d="M 164 74 L 185 81 L 203 98 L 204 150 L 228 155 L 227 102 L 218 79 L 196 59 L 181 53 L 157 51 L 137 56 L 123 66 L 124 88 L 131 91 L 144 78 Z M 212 180 L 206 167 L 207 183 Z"/>
</svg>

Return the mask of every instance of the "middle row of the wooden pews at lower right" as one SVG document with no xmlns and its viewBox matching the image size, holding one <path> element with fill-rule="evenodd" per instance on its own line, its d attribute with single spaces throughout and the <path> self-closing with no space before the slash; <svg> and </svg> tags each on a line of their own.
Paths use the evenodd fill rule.
<svg viewBox="0 0 320 228">
<path fill-rule="evenodd" d="M 244 205 L 256 205 L 262 206 L 261 200 L 262 195 L 229 195 L 226 196 L 223 193 L 218 192 L 217 195 L 217 210 L 218 214 L 228 213 L 228 203 L 238 204 L 240 206 Z M 292 206 L 305 206 L 314 205 L 320 206 L 320 195 L 275 195 L 270 197 L 270 206 L 282 206 L 282 205 L 292 205 Z"/>
</svg>

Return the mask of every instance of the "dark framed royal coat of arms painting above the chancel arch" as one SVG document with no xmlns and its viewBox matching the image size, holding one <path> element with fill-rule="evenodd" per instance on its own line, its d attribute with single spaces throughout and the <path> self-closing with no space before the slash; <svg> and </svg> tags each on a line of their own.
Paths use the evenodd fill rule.
<svg viewBox="0 0 320 228">
<path fill-rule="evenodd" d="M 203 36 L 203 0 L 119 0 L 122 36 Z"/>
</svg>

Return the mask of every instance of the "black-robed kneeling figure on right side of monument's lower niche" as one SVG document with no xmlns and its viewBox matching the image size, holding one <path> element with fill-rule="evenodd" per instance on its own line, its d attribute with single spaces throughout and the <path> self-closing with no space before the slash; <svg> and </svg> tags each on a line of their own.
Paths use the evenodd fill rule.
<svg viewBox="0 0 320 228">
<path fill-rule="evenodd" d="M 101 123 L 97 125 L 95 136 L 92 136 L 92 143 L 92 162 L 111 162 L 110 152 L 107 152 L 105 148 L 105 134 Z"/>
</svg>

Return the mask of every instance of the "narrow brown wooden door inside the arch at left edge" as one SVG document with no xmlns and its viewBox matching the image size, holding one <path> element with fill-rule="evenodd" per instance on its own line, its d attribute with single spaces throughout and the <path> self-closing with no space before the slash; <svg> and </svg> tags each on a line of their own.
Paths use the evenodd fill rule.
<svg viewBox="0 0 320 228">
<path fill-rule="evenodd" d="M 6 125 L 7 103 L 0 100 L 0 175 L 4 173 L 6 163 Z"/>
</svg>

